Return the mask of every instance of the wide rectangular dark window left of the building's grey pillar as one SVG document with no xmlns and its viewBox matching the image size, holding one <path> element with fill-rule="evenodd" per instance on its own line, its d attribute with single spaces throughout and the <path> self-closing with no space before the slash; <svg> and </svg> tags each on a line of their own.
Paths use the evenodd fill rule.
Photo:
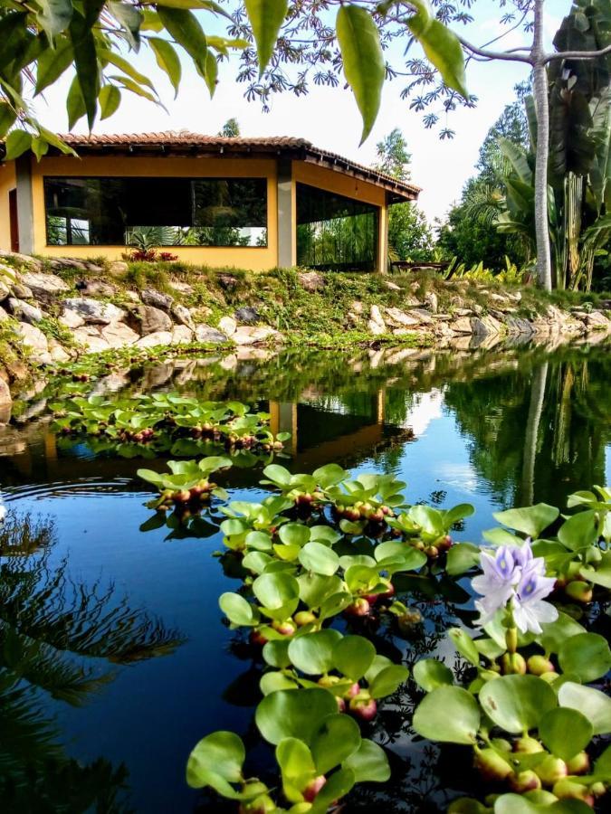
<svg viewBox="0 0 611 814">
<path fill-rule="evenodd" d="M 45 178 L 49 245 L 266 246 L 265 178 Z"/>
</svg>

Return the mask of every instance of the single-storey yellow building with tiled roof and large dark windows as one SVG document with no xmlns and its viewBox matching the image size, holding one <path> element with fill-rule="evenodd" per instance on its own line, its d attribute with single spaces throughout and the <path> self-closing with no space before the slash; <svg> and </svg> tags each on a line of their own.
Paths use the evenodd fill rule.
<svg viewBox="0 0 611 814">
<path fill-rule="evenodd" d="M 215 268 L 384 270 L 388 206 L 419 193 L 301 138 L 63 138 L 78 157 L 52 148 L 0 164 L 0 248 L 119 260 L 140 245 Z"/>
</svg>

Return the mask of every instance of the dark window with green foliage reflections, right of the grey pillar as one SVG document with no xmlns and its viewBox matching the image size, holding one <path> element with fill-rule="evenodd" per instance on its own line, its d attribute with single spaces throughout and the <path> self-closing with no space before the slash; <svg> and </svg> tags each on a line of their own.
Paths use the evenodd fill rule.
<svg viewBox="0 0 611 814">
<path fill-rule="evenodd" d="M 377 206 L 297 185 L 297 263 L 369 271 L 377 264 Z"/>
</svg>

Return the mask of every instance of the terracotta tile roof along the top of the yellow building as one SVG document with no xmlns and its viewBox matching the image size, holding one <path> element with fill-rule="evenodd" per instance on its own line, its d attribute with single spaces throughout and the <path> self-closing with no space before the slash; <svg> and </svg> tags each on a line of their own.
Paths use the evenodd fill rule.
<svg viewBox="0 0 611 814">
<path fill-rule="evenodd" d="M 138 150 L 138 148 L 159 148 L 171 150 L 172 148 L 180 149 L 181 147 L 191 147 L 196 152 L 197 147 L 208 147 L 212 150 L 226 151 L 232 153 L 251 153 L 253 151 L 273 152 L 273 153 L 293 153 L 301 154 L 304 158 L 318 161 L 325 166 L 338 170 L 348 171 L 348 173 L 360 175 L 372 184 L 384 186 L 391 192 L 396 192 L 400 197 L 406 199 L 414 199 L 420 192 L 420 187 L 414 184 L 409 184 L 406 181 L 398 181 L 391 175 L 378 173 L 377 170 L 371 167 L 358 164 L 351 161 L 349 158 L 339 156 L 337 153 L 331 153 L 329 150 L 323 150 L 319 147 L 314 147 L 310 141 L 305 138 L 295 138 L 291 136 L 266 136 L 266 137 L 224 137 L 224 136 L 205 136 L 202 133 L 191 133 L 188 130 L 167 130 L 158 133 L 117 133 L 117 134 L 100 134 L 91 136 L 76 136 L 68 134 L 61 136 L 66 144 L 74 147 L 75 150 L 87 150 L 91 148 L 92 151 L 109 150 L 113 149 L 129 149 L 130 151 Z"/>
</svg>

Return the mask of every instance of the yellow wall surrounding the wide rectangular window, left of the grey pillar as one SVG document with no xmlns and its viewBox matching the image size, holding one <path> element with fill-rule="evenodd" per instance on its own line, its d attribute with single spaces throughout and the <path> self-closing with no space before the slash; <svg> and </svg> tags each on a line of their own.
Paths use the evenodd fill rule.
<svg viewBox="0 0 611 814">
<path fill-rule="evenodd" d="M 258 246 L 167 246 L 165 251 L 177 254 L 178 260 L 201 263 L 215 268 L 233 266 L 236 269 L 261 271 L 278 264 L 278 206 L 276 203 L 276 162 L 259 158 L 171 158 L 86 156 L 49 157 L 40 163 L 33 159 L 32 191 L 34 247 L 36 254 L 50 257 L 91 257 L 104 254 L 110 260 L 120 260 L 128 251 L 125 246 L 47 246 L 44 213 L 44 175 L 146 175 L 164 177 L 251 177 L 267 178 L 267 247 Z"/>
</svg>

